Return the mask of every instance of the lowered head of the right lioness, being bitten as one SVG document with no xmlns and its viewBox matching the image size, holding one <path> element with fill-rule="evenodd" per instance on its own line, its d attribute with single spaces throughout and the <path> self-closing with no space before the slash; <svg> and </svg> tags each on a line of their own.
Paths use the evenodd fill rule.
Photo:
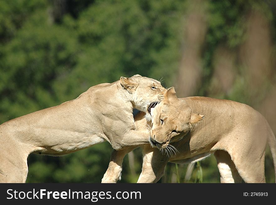
<svg viewBox="0 0 276 205">
<path fill-rule="evenodd" d="M 192 113 L 189 105 L 178 99 L 174 88 L 164 95 L 164 100 L 152 111 L 151 146 L 166 149 L 171 142 L 179 141 L 204 115 Z"/>
</svg>

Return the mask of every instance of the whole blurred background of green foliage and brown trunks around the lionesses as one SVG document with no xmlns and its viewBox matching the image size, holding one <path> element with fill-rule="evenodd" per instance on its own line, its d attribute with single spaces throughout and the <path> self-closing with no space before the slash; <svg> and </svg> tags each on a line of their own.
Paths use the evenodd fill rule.
<svg viewBox="0 0 276 205">
<path fill-rule="evenodd" d="M 246 103 L 276 133 L 275 28 L 275 0 L 1 0 L 0 124 L 141 74 L 178 97 Z M 101 182 L 111 152 L 31 154 L 27 182 Z M 141 163 L 140 148 L 126 156 L 120 182 Z M 186 170 L 168 163 L 160 182 L 220 182 L 214 156 Z M 265 172 L 275 182 L 269 150 Z"/>
</svg>

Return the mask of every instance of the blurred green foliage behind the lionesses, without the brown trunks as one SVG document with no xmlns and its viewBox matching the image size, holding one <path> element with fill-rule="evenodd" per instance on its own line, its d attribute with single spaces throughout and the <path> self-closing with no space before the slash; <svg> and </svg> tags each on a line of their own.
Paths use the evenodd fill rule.
<svg viewBox="0 0 276 205">
<path fill-rule="evenodd" d="M 72 100 L 89 87 L 114 82 L 120 76 L 163 78 L 164 87 L 174 86 L 189 4 L 182 0 L 2 0 L 0 123 Z M 265 10 L 276 25 L 270 4 L 275 6 L 253 0 L 207 2 L 203 83 L 195 95 L 209 93 L 215 49 L 223 44 L 237 51 L 244 43 L 250 9 Z M 272 33 L 275 40 L 275 29 Z M 264 98 L 271 85 L 268 82 L 257 93 L 248 93 L 243 69 L 238 68 L 231 93 L 220 96 L 252 105 Z M 27 182 L 100 182 L 111 151 L 108 143 L 102 143 L 62 157 L 31 154 Z M 121 182 L 138 179 L 140 149 L 135 150 L 135 157 L 136 175 L 130 174 L 126 157 Z M 185 170 L 168 164 L 165 182 L 176 172 L 183 182 Z M 218 176 L 215 159 L 210 158 L 196 167 L 191 181 L 219 182 Z"/>
</svg>

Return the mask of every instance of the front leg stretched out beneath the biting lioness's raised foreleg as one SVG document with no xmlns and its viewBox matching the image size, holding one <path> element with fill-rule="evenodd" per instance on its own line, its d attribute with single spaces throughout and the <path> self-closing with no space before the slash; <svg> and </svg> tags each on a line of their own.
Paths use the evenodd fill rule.
<svg viewBox="0 0 276 205">
<path fill-rule="evenodd" d="M 111 154 L 109 166 L 106 170 L 102 183 L 116 183 L 121 180 L 121 172 L 123 170 L 122 163 L 125 155 L 137 147 L 128 147 L 123 150 L 114 150 Z"/>
</svg>

